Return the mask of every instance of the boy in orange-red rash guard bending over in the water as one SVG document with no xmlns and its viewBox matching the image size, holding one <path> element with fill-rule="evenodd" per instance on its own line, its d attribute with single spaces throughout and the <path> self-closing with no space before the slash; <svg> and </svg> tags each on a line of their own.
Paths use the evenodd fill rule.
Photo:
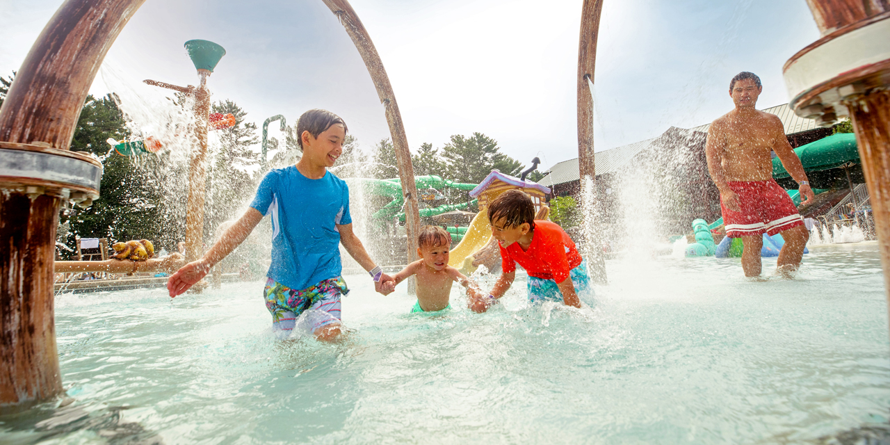
<svg viewBox="0 0 890 445">
<path fill-rule="evenodd" d="M 470 301 L 470 309 L 485 312 L 506 293 L 516 278 L 516 263 L 529 274 L 529 300 L 532 303 L 558 301 L 581 307 L 578 293 L 590 291 L 587 266 L 578 248 L 549 221 L 535 221 L 535 206 L 522 190 L 508 190 L 491 202 L 491 236 L 498 239 L 501 276 L 490 295 Z"/>
</svg>

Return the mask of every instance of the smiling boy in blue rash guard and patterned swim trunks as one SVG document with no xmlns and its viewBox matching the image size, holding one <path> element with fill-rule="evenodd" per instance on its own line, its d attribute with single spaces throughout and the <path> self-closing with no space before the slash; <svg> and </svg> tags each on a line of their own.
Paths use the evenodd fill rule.
<svg viewBox="0 0 890 445">
<path fill-rule="evenodd" d="M 377 292 L 392 292 L 387 285 L 392 278 L 376 266 L 352 232 L 349 188 L 328 172 L 343 151 L 343 119 L 311 109 L 300 117 L 296 134 L 303 158 L 296 166 L 266 174 L 247 212 L 200 259 L 176 271 L 167 280 L 167 290 L 174 297 L 203 279 L 269 214 L 272 262 L 263 296 L 273 327 L 291 330 L 306 310 L 327 312 L 327 317 L 311 321 L 312 332 L 320 340 L 334 340 L 341 333 L 340 296 L 349 292 L 340 276 L 339 244 L 371 274 Z"/>
</svg>

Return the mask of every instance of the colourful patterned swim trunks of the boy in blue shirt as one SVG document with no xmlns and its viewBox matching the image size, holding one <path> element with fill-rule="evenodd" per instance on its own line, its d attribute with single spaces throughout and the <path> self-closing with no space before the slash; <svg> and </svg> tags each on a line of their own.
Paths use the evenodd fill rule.
<svg viewBox="0 0 890 445">
<path fill-rule="evenodd" d="M 327 312 L 330 317 L 317 317 L 312 321 L 312 332 L 341 320 L 340 295 L 346 294 L 349 294 L 349 287 L 343 277 L 323 279 L 303 290 L 291 289 L 270 278 L 263 290 L 266 309 L 272 314 L 272 328 L 292 330 L 296 318 L 309 309 Z"/>
</svg>

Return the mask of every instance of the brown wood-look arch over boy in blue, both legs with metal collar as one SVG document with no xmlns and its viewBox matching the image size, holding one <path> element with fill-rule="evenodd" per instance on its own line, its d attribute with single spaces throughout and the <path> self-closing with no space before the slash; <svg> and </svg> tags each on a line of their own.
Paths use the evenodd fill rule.
<svg viewBox="0 0 890 445">
<path fill-rule="evenodd" d="M 405 193 L 408 257 L 417 252 L 417 190 L 398 104 L 367 30 L 346 0 L 323 0 L 368 66 Z M 98 196 L 101 164 L 69 151 L 105 54 L 145 0 L 67 0 L 31 47 L 0 109 L 0 406 L 59 394 L 53 259 L 63 201 Z M 97 165 L 98 164 L 98 165 Z M 70 172 L 79 177 L 72 177 Z"/>
</svg>

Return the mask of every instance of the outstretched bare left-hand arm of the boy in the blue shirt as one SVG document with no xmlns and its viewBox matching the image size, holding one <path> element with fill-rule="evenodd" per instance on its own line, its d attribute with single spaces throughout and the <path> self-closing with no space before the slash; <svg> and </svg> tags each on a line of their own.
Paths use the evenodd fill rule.
<svg viewBox="0 0 890 445">
<path fill-rule="evenodd" d="M 263 220 L 263 214 L 258 212 L 254 207 L 248 207 L 237 222 L 223 232 L 223 236 L 216 241 L 206 253 L 198 260 L 188 263 L 179 271 L 176 271 L 170 279 L 167 279 L 167 291 L 171 297 L 180 295 L 189 290 L 189 287 L 203 279 L 207 272 L 210 271 L 214 264 L 223 261 L 226 255 L 231 254 L 235 247 L 247 239 L 251 231 L 254 231 L 256 224 Z"/>
</svg>

